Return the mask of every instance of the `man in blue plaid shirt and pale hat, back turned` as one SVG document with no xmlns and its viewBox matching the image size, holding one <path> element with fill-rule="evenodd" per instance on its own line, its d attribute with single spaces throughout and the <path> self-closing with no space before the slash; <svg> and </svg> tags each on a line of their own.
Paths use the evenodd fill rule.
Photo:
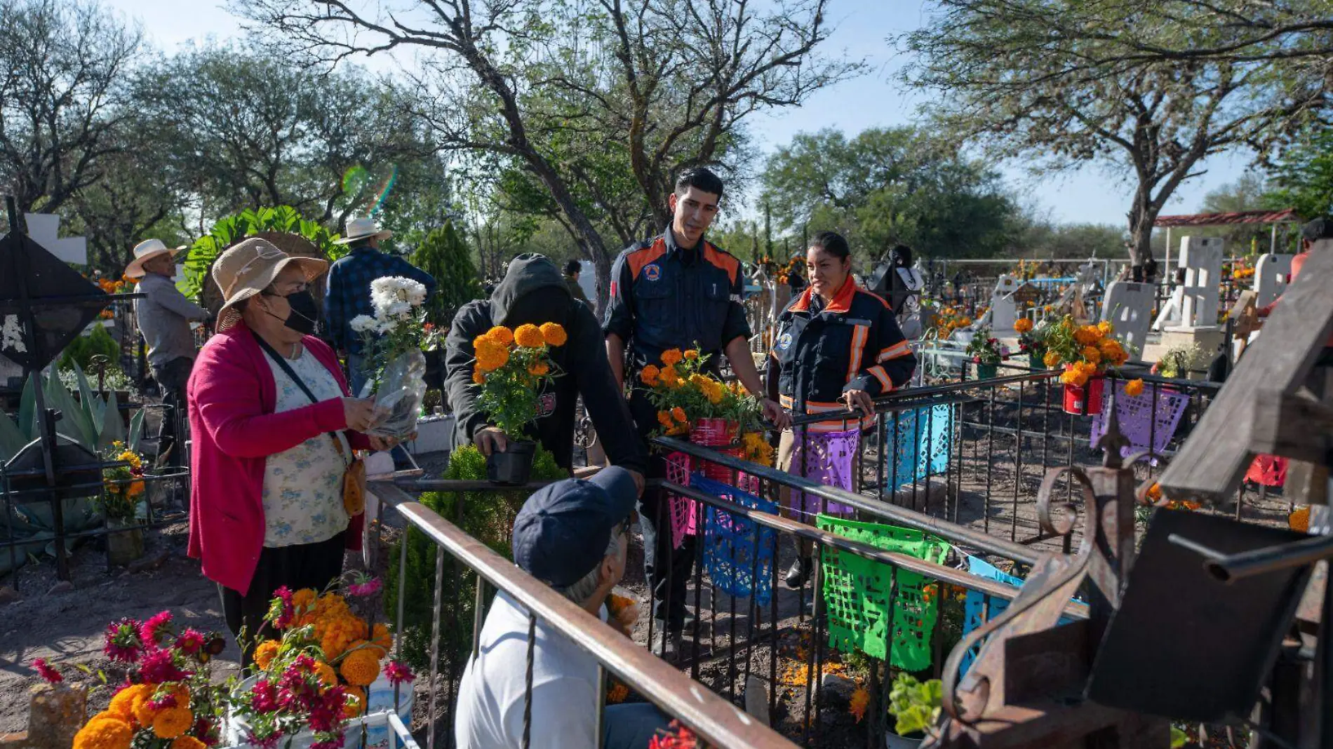
<svg viewBox="0 0 1333 749">
<path fill-rule="evenodd" d="M 427 297 L 435 293 L 435 279 L 397 255 L 380 252 L 380 241 L 393 232 L 380 229 L 375 219 L 357 216 L 348 219 L 347 235 L 336 244 L 348 245 L 345 256 L 329 268 L 328 288 L 324 295 L 324 324 L 333 348 L 347 353 L 347 374 L 352 394 L 361 394 L 365 367 L 361 357 L 361 337 L 352 332 L 351 321 L 357 315 L 373 315 L 371 281 L 387 276 L 403 276 L 425 285 Z"/>
</svg>

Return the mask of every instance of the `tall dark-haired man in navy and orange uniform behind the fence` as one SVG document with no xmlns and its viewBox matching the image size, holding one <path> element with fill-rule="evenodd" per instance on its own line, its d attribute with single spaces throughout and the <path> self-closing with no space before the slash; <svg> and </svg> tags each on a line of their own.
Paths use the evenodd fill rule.
<svg viewBox="0 0 1333 749">
<path fill-rule="evenodd" d="M 745 389 L 762 398 L 764 416 L 780 425 L 788 420 L 777 402 L 764 397 L 750 356 L 750 329 L 741 307 L 741 264 L 704 239 L 721 196 L 722 181 L 717 175 L 704 168 L 684 172 L 668 199 L 670 227 L 621 252 L 611 269 L 611 300 L 603 320 L 607 355 L 617 384 L 631 385 L 629 410 L 645 440 L 657 429 L 657 409 L 639 384 L 639 372 L 648 364 L 660 364 L 663 352 L 673 348 L 698 348 L 708 355 L 714 372 L 725 355 Z M 611 440 L 604 442 L 609 445 Z M 663 458 L 653 456 L 649 476 L 665 473 Z M 657 620 L 652 649 L 659 654 L 665 654 L 669 640 L 684 628 L 685 582 L 694 562 L 693 537 L 686 537 L 680 549 L 672 548 L 664 500 L 661 492 L 649 490 L 639 506 L 644 573 L 653 586 Z M 664 629 L 670 638 L 660 637 Z"/>
</svg>

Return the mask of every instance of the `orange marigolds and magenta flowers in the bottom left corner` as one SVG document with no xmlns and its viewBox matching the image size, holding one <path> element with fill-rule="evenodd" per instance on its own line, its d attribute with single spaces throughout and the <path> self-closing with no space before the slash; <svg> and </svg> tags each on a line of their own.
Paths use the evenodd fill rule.
<svg viewBox="0 0 1333 749">
<path fill-rule="evenodd" d="M 75 734 L 73 749 L 216 745 L 221 698 L 208 664 L 224 648 L 220 634 L 172 626 L 171 612 L 145 621 L 112 622 L 103 652 L 113 665 L 124 666 L 128 676 L 112 694 L 111 705 Z M 64 681 L 53 666 L 35 665 L 47 681 Z"/>
</svg>

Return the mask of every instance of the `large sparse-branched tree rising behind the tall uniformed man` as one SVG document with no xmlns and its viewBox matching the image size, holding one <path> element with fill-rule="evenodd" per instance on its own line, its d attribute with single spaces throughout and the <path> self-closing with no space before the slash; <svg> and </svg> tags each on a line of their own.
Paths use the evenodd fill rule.
<svg viewBox="0 0 1333 749">
<path fill-rule="evenodd" d="M 750 113 L 801 101 L 858 69 L 813 55 L 826 0 L 256 0 L 237 9 L 296 53 L 428 52 L 417 61 L 425 116 L 447 148 L 519 165 L 609 288 L 612 251 L 665 225 L 672 172 L 716 163 Z M 627 211 L 628 208 L 628 211 Z"/>
</svg>

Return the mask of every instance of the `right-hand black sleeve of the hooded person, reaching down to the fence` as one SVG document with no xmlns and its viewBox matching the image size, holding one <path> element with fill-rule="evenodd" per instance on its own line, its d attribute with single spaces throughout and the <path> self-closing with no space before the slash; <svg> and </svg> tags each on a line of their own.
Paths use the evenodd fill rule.
<svg viewBox="0 0 1333 749">
<path fill-rule="evenodd" d="M 616 388 L 607 344 L 597 319 L 587 305 L 573 305 L 569 324 L 569 374 L 575 377 L 588 417 L 612 465 L 647 473 L 648 450 L 639 438 L 629 405 Z"/>
</svg>

